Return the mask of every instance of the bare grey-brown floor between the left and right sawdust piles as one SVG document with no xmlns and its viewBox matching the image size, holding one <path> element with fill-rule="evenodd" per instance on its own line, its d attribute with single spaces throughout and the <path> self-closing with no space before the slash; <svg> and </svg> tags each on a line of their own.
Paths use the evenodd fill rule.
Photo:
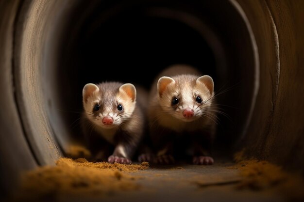
<svg viewBox="0 0 304 202">
<path fill-rule="evenodd" d="M 140 176 L 141 190 L 117 193 L 104 201 L 126 202 L 279 202 L 276 194 L 267 191 L 240 190 L 239 172 L 233 163 L 216 163 L 212 166 L 174 165 L 152 166 L 145 171 L 131 173 Z"/>
</svg>

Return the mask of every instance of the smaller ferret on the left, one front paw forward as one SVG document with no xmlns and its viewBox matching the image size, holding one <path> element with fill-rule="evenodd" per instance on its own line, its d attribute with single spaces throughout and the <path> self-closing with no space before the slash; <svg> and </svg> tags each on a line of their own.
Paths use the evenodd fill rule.
<svg viewBox="0 0 304 202">
<path fill-rule="evenodd" d="M 137 92 L 139 101 L 146 96 L 140 93 Z M 136 89 L 131 83 L 103 82 L 84 86 L 82 129 L 95 159 L 132 163 L 145 127 L 140 104 L 136 103 Z"/>
</svg>

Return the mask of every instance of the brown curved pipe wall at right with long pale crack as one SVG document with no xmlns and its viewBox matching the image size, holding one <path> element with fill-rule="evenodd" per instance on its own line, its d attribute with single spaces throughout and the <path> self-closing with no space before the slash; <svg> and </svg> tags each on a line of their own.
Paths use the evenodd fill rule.
<svg viewBox="0 0 304 202">
<path fill-rule="evenodd" d="M 248 156 L 304 169 L 304 2 L 242 1 L 256 36 L 260 89 L 248 133 Z"/>
</svg>

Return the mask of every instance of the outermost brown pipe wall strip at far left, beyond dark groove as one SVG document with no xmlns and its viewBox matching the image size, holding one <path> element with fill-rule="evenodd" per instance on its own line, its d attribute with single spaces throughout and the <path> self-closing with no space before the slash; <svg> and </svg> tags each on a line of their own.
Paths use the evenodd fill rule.
<svg viewBox="0 0 304 202">
<path fill-rule="evenodd" d="M 21 171 L 37 166 L 17 110 L 13 76 L 14 27 L 20 1 L 0 1 L 0 199 Z"/>
</svg>

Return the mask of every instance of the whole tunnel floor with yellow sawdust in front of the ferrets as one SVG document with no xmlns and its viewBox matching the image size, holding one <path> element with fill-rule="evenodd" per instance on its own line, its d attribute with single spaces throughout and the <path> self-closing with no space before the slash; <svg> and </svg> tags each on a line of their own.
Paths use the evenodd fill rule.
<svg viewBox="0 0 304 202">
<path fill-rule="evenodd" d="M 132 165 L 60 158 L 29 171 L 15 201 L 303 201 L 301 176 L 267 161 L 215 158 L 214 165 Z M 13 200 L 14 201 L 14 200 Z"/>
</svg>

